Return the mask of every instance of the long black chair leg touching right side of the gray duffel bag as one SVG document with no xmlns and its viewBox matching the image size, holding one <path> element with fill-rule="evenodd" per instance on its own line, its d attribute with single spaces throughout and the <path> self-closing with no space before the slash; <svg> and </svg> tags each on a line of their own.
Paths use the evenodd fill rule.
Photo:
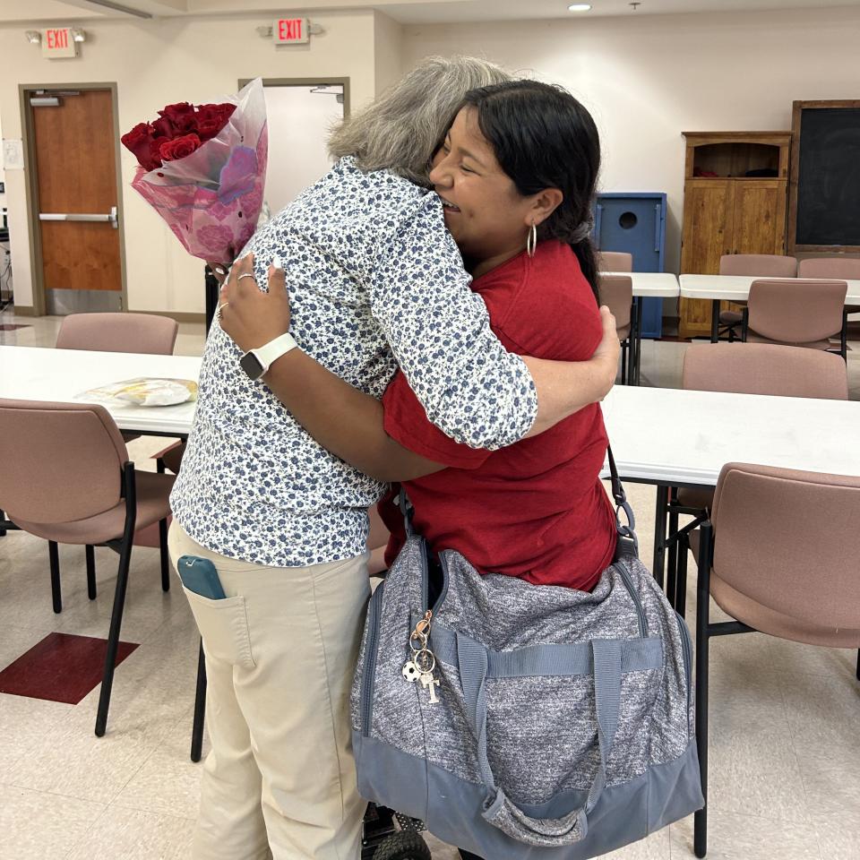
<svg viewBox="0 0 860 860">
<path fill-rule="evenodd" d="M 713 528 L 710 522 L 701 526 L 699 546 L 699 581 L 696 589 L 696 747 L 699 752 L 701 794 L 705 805 L 693 820 L 693 852 L 697 857 L 708 853 L 708 625 L 710 613 L 710 550 Z"/>
</svg>

